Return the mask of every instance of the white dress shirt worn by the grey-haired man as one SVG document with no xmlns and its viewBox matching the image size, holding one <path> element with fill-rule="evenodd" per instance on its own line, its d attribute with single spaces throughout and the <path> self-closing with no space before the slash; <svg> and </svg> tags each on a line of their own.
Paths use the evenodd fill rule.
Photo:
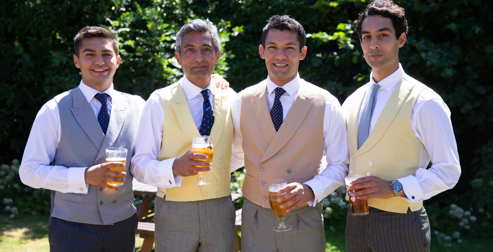
<svg viewBox="0 0 493 252">
<path fill-rule="evenodd" d="M 199 130 L 200 124 L 202 123 L 204 103 L 204 97 L 200 93 L 202 89 L 192 84 L 185 77 L 180 79 L 179 82 L 181 82 L 181 87 L 187 97 L 190 112 L 192 113 L 195 125 Z M 211 85 L 215 85 L 214 81 L 211 81 L 206 89 L 209 89 L 209 101 L 211 107 L 214 108 L 214 89 Z M 231 88 L 228 88 L 227 92 L 229 92 L 228 95 L 230 96 L 236 95 Z M 173 163 L 179 157 L 162 161 L 157 160 L 161 147 L 164 122 L 165 118 L 161 96 L 156 90 L 149 96 L 149 99 L 145 103 L 144 110 L 142 111 L 142 118 L 137 130 L 135 155 L 132 158 L 131 171 L 139 182 L 161 188 L 170 188 L 181 186 L 182 177 L 173 175 Z M 241 145 L 235 146 L 234 142 L 233 139 L 231 170 L 236 170 L 244 165 Z"/>
</svg>

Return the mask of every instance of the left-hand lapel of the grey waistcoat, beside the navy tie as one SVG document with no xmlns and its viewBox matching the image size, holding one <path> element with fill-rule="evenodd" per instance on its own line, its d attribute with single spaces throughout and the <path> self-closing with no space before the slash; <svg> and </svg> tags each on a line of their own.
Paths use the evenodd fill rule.
<svg viewBox="0 0 493 252">
<path fill-rule="evenodd" d="M 73 117 L 77 120 L 80 128 L 88 135 L 94 147 L 100 150 L 103 144 L 104 134 L 99 125 L 98 119 L 94 116 L 93 110 L 79 88 L 72 90 L 73 105 L 70 108 Z M 96 127 L 97 126 L 97 127 Z"/>
</svg>

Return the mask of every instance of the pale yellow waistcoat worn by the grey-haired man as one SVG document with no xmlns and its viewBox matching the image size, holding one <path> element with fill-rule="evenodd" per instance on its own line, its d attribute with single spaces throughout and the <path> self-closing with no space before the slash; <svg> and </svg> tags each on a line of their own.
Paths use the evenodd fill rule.
<svg viewBox="0 0 493 252">
<path fill-rule="evenodd" d="M 214 89 L 214 124 L 211 134 L 214 146 L 212 170 L 205 174 L 210 185 L 194 185 L 198 175 L 182 178 L 181 186 L 158 188 L 157 196 L 166 195 L 167 201 L 200 201 L 231 195 L 231 144 L 233 122 L 230 98 L 220 88 Z M 158 160 L 181 157 L 192 149 L 193 136 L 200 133 L 192 118 L 187 98 L 180 82 L 159 90 L 164 113 L 164 129 Z"/>
</svg>

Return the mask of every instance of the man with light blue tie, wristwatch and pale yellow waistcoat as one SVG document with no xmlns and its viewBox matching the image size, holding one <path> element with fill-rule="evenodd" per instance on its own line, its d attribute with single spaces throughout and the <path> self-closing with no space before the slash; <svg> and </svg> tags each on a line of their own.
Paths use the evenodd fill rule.
<svg viewBox="0 0 493 252">
<path fill-rule="evenodd" d="M 352 194 L 368 199 L 369 214 L 347 215 L 348 251 L 429 251 L 430 222 L 423 201 L 460 176 L 450 110 L 432 89 L 404 73 L 404 10 L 377 0 L 360 14 L 355 31 L 370 82 L 343 104 L 348 127 Z M 431 160 L 431 167 L 427 169 Z"/>
</svg>

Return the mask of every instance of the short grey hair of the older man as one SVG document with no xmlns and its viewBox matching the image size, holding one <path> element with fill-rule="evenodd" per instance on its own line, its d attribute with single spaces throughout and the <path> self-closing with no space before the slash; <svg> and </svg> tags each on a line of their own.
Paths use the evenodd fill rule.
<svg viewBox="0 0 493 252">
<path fill-rule="evenodd" d="M 219 44 L 219 36 L 217 36 L 216 26 L 211 21 L 209 21 L 209 19 L 194 19 L 183 25 L 180 31 L 178 31 L 178 33 L 176 34 L 175 51 L 178 52 L 178 55 L 180 55 L 182 47 L 182 38 L 188 32 L 209 32 L 211 34 L 211 40 L 212 44 L 214 44 L 216 54 L 221 49 L 221 46 Z"/>
</svg>

